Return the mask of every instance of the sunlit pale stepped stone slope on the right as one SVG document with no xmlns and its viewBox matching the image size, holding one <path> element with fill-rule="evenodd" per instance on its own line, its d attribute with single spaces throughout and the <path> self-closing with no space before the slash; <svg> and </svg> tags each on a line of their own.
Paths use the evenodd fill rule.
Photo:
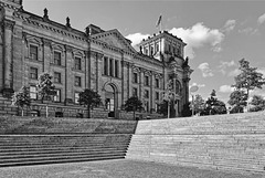
<svg viewBox="0 0 265 178">
<path fill-rule="evenodd" d="M 139 121 L 126 158 L 265 174 L 265 113 Z"/>
</svg>

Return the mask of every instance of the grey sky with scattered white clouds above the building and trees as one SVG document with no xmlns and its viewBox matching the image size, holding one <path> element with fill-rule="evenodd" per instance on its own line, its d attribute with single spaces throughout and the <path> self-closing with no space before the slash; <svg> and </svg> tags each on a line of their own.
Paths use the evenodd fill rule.
<svg viewBox="0 0 265 178">
<path fill-rule="evenodd" d="M 159 15 L 162 30 L 181 38 L 186 56 L 194 70 L 190 85 L 208 98 L 212 90 L 226 102 L 239 74 L 239 61 L 246 59 L 265 74 L 265 1 L 216 0 L 23 0 L 25 10 L 43 15 L 47 8 L 51 20 L 84 30 L 93 23 L 103 30 L 118 29 L 137 44 L 157 33 Z M 265 90 L 264 90 L 265 91 Z M 253 94 L 265 92 L 257 90 Z"/>
</svg>

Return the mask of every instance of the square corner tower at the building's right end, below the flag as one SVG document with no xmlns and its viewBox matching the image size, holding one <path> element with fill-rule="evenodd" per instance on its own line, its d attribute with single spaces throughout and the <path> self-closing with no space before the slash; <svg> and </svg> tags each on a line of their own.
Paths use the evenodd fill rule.
<svg viewBox="0 0 265 178">
<path fill-rule="evenodd" d="M 160 31 L 158 34 L 144 39 L 140 53 L 153 57 L 165 66 L 165 90 L 171 87 L 174 102 L 171 104 L 171 116 L 180 116 L 183 106 L 189 103 L 189 81 L 193 70 L 189 66 L 189 59 L 184 59 L 184 43 L 180 38 Z"/>
</svg>

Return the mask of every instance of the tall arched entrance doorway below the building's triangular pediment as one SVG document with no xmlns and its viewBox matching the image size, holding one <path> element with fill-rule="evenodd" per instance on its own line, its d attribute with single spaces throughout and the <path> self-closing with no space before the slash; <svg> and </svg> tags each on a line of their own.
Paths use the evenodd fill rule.
<svg viewBox="0 0 265 178">
<path fill-rule="evenodd" d="M 108 117 L 115 117 L 115 90 L 112 85 L 105 86 L 105 107 L 108 111 Z"/>
</svg>

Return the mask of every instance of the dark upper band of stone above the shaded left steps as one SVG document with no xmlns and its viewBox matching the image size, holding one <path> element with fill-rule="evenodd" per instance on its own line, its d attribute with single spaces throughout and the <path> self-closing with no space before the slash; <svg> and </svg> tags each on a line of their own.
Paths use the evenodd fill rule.
<svg viewBox="0 0 265 178">
<path fill-rule="evenodd" d="M 0 134 L 134 134 L 136 121 L 0 116 Z"/>
</svg>

